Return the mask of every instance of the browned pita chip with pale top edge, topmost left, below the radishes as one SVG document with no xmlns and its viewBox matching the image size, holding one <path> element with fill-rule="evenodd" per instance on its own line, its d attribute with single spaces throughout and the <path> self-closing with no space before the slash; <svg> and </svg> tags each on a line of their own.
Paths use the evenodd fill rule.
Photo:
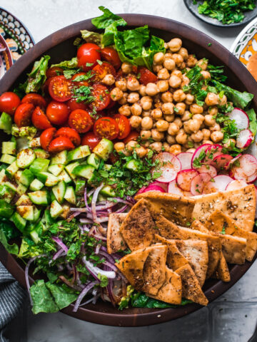
<svg viewBox="0 0 257 342">
<path fill-rule="evenodd" d="M 176 224 L 186 225 L 192 220 L 194 201 L 191 198 L 156 191 L 137 195 L 136 200 L 144 198 L 154 217 L 163 215 Z"/>
</svg>

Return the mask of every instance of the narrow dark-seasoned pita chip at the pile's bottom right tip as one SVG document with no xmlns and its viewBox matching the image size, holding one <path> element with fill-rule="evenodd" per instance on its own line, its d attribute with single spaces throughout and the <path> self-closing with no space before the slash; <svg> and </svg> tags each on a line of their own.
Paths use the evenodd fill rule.
<svg viewBox="0 0 257 342">
<path fill-rule="evenodd" d="M 203 294 L 199 281 L 196 278 L 196 274 L 193 273 L 191 266 L 182 266 L 180 269 L 176 269 L 176 273 L 181 276 L 182 297 L 201 305 L 207 305 L 208 299 Z"/>
</svg>

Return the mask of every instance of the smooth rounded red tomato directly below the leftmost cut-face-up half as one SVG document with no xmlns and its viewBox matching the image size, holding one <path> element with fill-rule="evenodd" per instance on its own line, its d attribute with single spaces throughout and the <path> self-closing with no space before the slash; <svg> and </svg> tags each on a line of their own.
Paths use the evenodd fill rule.
<svg viewBox="0 0 257 342">
<path fill-rule="evenodd" d="M 69 118 L 69 107 L 65 103 L 51 101 L 46 108 L 46 116 L 50 123 L 63 125 Z"/>
</svg>

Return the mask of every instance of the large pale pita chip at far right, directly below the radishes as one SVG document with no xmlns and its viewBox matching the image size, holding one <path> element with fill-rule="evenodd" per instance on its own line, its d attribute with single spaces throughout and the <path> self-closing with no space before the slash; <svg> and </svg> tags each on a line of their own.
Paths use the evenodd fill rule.
<svg viewBox="0 0 257 342">
<path fill-rule="evenodd" d="M 238 190 L 195 196 L 192 199 L 195 201 L 192 217 L 203 224 L 218 209 L 231 217 L 237 227 L 248 232 L 253 231 L 256 212 L 254 185 L 247 185 Z"/>
</svg>

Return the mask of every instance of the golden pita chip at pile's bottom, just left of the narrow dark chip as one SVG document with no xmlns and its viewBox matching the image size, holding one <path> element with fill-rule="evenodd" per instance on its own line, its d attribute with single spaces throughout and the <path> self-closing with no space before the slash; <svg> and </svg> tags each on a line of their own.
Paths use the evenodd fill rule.
<svg viewBox="0 0 257 342">
<path fill-rule="evenodd" d="M 166 279 L 163 286 L 158 290 L 156 296 L 147 294 L 149 297 L 165 301 L 169 304 L 181 304 L 182 299 L 182 282 L 181 276 L 168 269 L 166 266 Z"/>
</svg>

